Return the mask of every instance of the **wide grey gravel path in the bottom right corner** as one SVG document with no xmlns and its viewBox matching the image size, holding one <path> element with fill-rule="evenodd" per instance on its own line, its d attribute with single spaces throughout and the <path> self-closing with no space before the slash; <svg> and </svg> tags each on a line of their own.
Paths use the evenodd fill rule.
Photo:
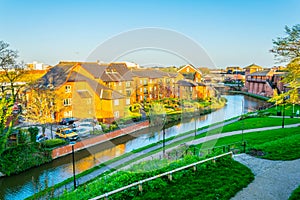
<svg viewBox="0 0 300 200">
<path fill-rule="evenodd" d="M 271 161 L 247 154 L 235 155 L 234 159 L 249 167 L 255 179 L 232 200 L 284 200 L 300 184 L 300 159 Z"/>
</svg>

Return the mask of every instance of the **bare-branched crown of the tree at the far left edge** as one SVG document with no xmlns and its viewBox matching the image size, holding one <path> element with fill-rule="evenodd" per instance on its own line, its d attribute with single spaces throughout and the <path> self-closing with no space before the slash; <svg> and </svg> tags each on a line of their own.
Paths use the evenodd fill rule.
<svg viewBox="0 0 300 200">
<path fill-rule="evenodd" d="M 0 41 L 0 84 L 1 93 L 10 94 L 16 100 L 24 86 L 24 76 L 28 74 L 25 65 L 17 62 L 18 52 L 9 49 L 9 44 Z"/>
</svg>

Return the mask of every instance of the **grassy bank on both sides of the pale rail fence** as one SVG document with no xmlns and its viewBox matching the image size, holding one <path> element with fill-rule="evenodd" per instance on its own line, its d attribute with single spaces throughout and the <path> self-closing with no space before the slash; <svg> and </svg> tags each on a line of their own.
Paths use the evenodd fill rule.
<svg viewBox="0 0 300 200">
<path fill-rule="evenodd" d="M 132 167 L 132 171 L 117 172 L 99 178 L 70 193 L 65 193 L 59 199 L 88 199 L 139 180 L 161 174 L 172 169 L 188 165 L 203 158 L 186 156 L 184 159 L 168 162 L 166 160 L 146 161 Z M 149 169 L 149 165 L 153 166 Z M 161 167 L 162 166 L 162 167 Z M 145 169 L 146 168 L 146 169 Z M 139 169 L 138 173 L 135 173 Z M 145 169 L 145 170 L 142 170 Z M 210 177 L 209 179 L 203 177 Z M 111 196 L 112 199 L 229 199 L 236 192 L 247 186 L 253 180 L 252 172 L 245 166 L 230 158 L 208 162 L 192 169 L 173 174 L 172 181 L 162 177 L 143 184 L 143 193 L 137 188 Z M 179 189 L 180 187 L 180 189 Z M 184 190 L 182 190 L 184 188 Z M 184 192 L 182 192 L 184 191 Z"/>
</svg>

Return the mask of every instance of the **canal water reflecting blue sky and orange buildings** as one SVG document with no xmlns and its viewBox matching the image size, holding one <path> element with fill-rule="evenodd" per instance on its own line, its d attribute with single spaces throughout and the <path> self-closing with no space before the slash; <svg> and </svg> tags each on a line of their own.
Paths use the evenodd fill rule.
<svg viewBox="0 0 300 200">
<path fill-rule="evenodd" d="M 227 105 L 213 113 L 196 119 L 197 128 L 221 122 L 232 117 L 255 111 L 266 102 L 243 95 L 224 95 Z M 166 138 L 195 129 L 195 119 L 183 120 L 166 129 Z M 114 139 L 110 142 L 91 147 L 75 153 L 76 173 L 92 168 L 99 163 L 118 157 L 134 149 L 162 140 L 161 127 L 156 130 L 143 129 L 134 134 Z M 0 178 L 0 199 L 19 200 L 33 195 L 69 177 L 73 173 L 72 157 L 58 158 L 51 163 L 32 168 L 26 172 L 10 177 Z"/>
</svg>

